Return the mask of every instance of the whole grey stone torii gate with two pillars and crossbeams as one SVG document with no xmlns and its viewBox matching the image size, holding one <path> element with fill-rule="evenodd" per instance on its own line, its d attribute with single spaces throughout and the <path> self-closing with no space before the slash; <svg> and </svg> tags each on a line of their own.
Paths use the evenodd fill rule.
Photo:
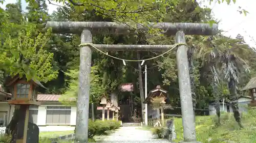
<svg viewBox="0 0 256 143">
<path fill-rule="evenodd" d="M 218 25 L 210 26 L 207 23 L 150 23 L 152 28 L 159 28 L 165 34 L 176 35 L 176 43 L 185 43 L 186 35 L 216 35 Z M 79 92 L 77 99 L 76 139 L 88 141 L 89 93 L 93 34 L 127 34 L 133 32 L 125 24 L 115 22 L 57 22 L 48 21 L 47 27 L 52 27 L 54 33 L 81 34 Z M 146 30 L 137 24 L 139 30 Z M 167 51 L 173 45 L 101 45 L 93 44 L 102 51 Z M 188 71 L 187 46 L 179 45 L 177 49 L 177 67 L 179 78 L 179 91 L 182 111 L 182 125 L 185 142 L 195 142 L 196 130 L 191 97 L 190 79 Z"/>
</svg>

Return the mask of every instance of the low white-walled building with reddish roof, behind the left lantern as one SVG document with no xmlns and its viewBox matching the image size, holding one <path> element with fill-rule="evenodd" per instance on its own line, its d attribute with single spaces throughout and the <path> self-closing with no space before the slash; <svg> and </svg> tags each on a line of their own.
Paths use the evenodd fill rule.
<svg viewBox="0 0 256 143">
<path fill-rule="evenodd" d="M 11 95 L 0 92 L 0 126 L 5 127 L 11 121 L 14 105 L 9 105 L 7 99 Z M 30 106 L 29 119 L 38 125 L 40 131 L 74 130 L 76 125 L 76 107 L 65 106 L 59 102 L 60 95 L 38 94 L 40 106 Z"/>
</svg>

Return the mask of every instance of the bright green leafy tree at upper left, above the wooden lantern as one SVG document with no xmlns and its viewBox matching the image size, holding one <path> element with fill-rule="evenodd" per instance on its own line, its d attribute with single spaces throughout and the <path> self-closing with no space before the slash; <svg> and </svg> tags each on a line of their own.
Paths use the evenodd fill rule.
<svg viewBox="0 0 256 143">
<path fill-rule="evenodd" d="M 57 77 L 52 66 L 53 54 L 45 46 L 51 37 L 51 30 L 40 33 L 36 24 L 26 21 L 21 3 L 8 4 L 1 15 L 1 58 L 0 67 L 7 75 L 26 75 L 47 82 Z"/>
</svg>

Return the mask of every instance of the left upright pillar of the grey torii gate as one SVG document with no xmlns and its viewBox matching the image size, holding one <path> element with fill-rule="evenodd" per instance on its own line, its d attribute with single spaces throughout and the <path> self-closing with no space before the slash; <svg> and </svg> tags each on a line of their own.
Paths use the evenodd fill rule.
<svg viewBox="0 0 256 143">
<path fill-rule="evenodd" d="M 81 44 L 92 43 L 92 33 L 84 29 L 81 34 Z M 76 140 L 88 142 L 89 94 L 92 50 L 90 46 L 80 48 L 79 91 L 76 113 Z"/>
</svg>

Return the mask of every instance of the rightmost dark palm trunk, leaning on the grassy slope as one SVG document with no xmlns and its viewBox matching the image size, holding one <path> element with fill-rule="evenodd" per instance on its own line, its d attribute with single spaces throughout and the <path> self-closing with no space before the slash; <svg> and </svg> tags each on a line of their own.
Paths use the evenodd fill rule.
<svg viewBox="0 0 256 143">
<path fill-rule="evenodd" d="M 228 88 L 229 88 L 229 93 L 231 95 L 230 105 L 233 110 L 234 119 L 238 122 L 238 125 L 241 128 L 243 128 L 242 123 L 241 123 L 241 118 L 240 118 L 239 107 L 238 107 L 238 94 L 237 94 L 236 81 L 234 80 L 234 77 L 231 73 L 230 73 L 230 80 L 228 82 Z"/>
</svg>

